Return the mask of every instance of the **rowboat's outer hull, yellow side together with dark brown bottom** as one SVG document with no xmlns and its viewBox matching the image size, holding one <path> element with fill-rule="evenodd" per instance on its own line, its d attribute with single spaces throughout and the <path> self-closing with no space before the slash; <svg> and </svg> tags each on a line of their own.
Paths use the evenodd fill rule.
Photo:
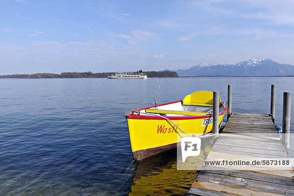
<svg viewBox="0 0 294 196">
<path fill-rule="evenodd" d="M 224 114 L 219 116 L 220 125 Z M 212 131 L 212 124 L 203 125 L 203 121 L 212 119 L 211 115 L 170 118 L 185 133 L 171 122 L 158 117 L 133 119 L 126 115 L 126 118 L 133 156 L 138 161 L 176 147 L 181 137 L 189 137 L 185 133 L 200 136 Z"/>
</svg>

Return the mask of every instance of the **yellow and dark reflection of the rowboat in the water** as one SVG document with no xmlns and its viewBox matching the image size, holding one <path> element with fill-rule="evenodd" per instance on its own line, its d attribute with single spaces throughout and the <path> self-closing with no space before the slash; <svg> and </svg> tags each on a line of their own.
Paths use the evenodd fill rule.
<svg viewBox="0 0 294 196">
<path fill-rule="evenodd" d="M 201 152 L 193 157 L 197 168 L 201 168 L 214 141 L 201 141 Z M 186 195 L 198 175 L 197 170 L 177 170 L 181 161 L 180 147 L 162 152 L 137 163 L 129 196 L 182 196 Z M 192 158 L 192 157 L 189 157 Z"/>
</svg>

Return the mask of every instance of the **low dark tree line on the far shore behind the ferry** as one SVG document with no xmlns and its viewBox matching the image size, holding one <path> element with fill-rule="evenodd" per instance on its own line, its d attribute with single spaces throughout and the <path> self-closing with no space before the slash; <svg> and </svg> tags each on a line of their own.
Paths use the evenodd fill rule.
<svg viewBox="0 0 294 196">
<path fill-rule="evenodd" d="M 141 70 L 140 70 L 141 71 Z M 134 73 L 141 73 L 140 71 Z M 144 72 L 148 77 L 178 77 L 176 72 Z M 108 75 L 115 74 L 114 72 L 92 73 L 92 72 L 63 72 L 57 73 L 32 73 L 32 74 L 11 74 L 0 75 L 0 78 L 106 78 Z"/>
</svg>

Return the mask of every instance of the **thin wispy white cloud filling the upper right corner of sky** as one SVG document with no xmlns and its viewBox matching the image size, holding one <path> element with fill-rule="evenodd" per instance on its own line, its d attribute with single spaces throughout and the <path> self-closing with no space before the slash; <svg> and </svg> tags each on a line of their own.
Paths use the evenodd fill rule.
<svg viewBox="0 0 294 196">
<path fill-rule="evenodd" d="M 294 25 L 293 0 L 207 0 L 187 6 L 204 10 L 214 17 L 261 20 L 266 25 Z"/>
</svg>

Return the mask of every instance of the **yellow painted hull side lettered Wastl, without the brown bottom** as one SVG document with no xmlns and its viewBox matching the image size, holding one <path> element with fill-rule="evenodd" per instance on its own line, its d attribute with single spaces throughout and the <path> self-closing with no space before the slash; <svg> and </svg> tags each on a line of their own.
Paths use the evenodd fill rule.
<svg viewBox="0 0 294 196">
<path fill-rule="evenodd" d="M 222 115 L 223 118 L 224 114 Z M 203 119 L 172 120 L 188 134 L 196 136 L 212 130 L 212 124 L 201 126 Z M 219 116 L 221 124 L 221 116 Z M 132 151 L 161 147 L 177 142 L 177 137 L 189 137 L 166 120 L 127 119 Z M 220 125 L 219 124 L 219 125 Z"/>
</svg>

